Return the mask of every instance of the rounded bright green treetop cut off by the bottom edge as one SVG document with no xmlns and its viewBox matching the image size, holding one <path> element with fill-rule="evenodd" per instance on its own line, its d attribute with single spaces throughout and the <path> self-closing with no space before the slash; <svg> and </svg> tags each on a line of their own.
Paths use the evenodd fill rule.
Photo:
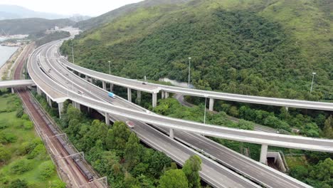
<svg viewBox="0 0 333 188">
<path fill-rule="evenodd" d="M 181 169 L 170 169 L 159 179 L 159 188 L 187 188 L 188 181 Z"/>
</svg>

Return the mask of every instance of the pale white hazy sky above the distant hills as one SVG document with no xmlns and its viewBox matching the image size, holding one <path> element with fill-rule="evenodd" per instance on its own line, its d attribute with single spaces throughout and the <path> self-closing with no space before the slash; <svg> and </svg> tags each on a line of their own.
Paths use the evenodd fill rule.
<svg viewBox="0 0 333 188">
<path fill-rule="evenodd" d="M 33 11 L 57 14 L 99 16 L 125 4 L 139 1 L 142 0 L 0 0 L 0 4 L 14 4 Z"/>
</svg>

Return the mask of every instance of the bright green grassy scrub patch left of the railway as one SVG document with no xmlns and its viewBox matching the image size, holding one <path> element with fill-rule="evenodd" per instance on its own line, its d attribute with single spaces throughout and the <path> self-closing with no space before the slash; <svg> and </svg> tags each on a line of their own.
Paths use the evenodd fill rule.
<svg viewBox="0 0 333 188">
<path fill-rule="evenodd" d="M 16 179 L 28 187 L 54 187 L 54 182 L 60 182 L 58 174 L 54 170 L 48 178 L 42 177 L 39 167 L 51 158 L 33 127 L 24 126 L 30 123 L 26 115 L 16 115 L 21 108 L 17 95 L 0 96 L 0 122 L 6 123 L 0 129 L 0 187 L 10 187 Z"/>
</svg>

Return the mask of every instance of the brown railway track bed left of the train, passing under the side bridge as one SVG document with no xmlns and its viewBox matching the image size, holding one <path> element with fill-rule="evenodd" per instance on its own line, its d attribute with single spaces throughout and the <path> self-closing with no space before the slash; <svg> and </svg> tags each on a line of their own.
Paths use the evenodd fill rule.
<svg viewBox="0 0 333 188">
<path fill-rule="evenodd" d="M 27 46 L 26 50 L 21 53 L 18 57 L 18 62 L 16 68 L 14 68 L 14 80 L 21 79 L 21 73 L 24 67 L 24 60 L 28 57 L 28 54 L 33 51 L 33 45 Z M 65 150 L 63 145 L 59 142 L 54 133 L 49 126 L 48 117 L 43 114 L 39 105 L 36 101 L 33 100 L 33 96 L 26 88 L 17 88 L 16 93 L 23 101 L 23 105 L 26 109 L 26 112 L 33 120 L 36 129 L 38 130 L 40 136 L 46 141 L 46 146 L 48 150 L 53 155 L 58 168 L 60 171 L 65 174 L 65 177 L 68 177 L 67 186 L 68 187 L 102 187 L 99 182 L 88 182 L 88 179 L 85 179 L 85 176 L 80 172 L 78 166 L 72 160 L 71 157 L 68 157 L 68 152 Z"/>
</svg>

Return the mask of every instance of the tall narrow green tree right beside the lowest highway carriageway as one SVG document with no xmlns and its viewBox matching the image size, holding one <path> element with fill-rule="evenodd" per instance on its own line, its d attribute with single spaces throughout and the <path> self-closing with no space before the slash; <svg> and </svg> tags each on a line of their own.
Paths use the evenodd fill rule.
<svg viewBox="0 0 333 188">
<path fill-rule="evenodd" d="M 186 160 L 183 166 L 183 172 L 189 181 L 189 187 L 201 187 L 199 171 L 201 171 L 201 158 L 198 155 L 193 155 Z"/>
</svg>

